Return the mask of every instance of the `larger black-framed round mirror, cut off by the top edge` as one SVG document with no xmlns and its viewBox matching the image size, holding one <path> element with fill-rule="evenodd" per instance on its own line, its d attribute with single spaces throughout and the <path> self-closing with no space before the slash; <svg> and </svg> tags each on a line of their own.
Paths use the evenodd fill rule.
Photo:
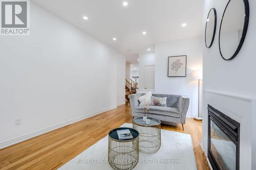
<svg viewBox="0 0 256 170">
<path fill-rule="evenodd" d="M 219 34 L 219 48 L 224 60 L 231 60 L 239 53 L 248 22 L 248 0 L 229 0 L 222 16 Z"/>
</svg>

